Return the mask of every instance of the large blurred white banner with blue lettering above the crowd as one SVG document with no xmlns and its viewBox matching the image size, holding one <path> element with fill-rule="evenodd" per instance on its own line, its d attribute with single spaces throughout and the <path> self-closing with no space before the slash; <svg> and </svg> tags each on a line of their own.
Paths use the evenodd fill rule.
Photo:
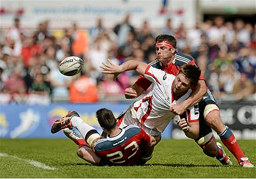
<svg viewBox="0 0 256 179">
<path fill-rule="evenodd" d="M 174 26 L 182 22 L 187 27 L 193 26 L 196 21 L 195 1 L 169 0 L 165 5 L 166 12 L 161 14 L 163 3 L 164 0 L 1 0 L 1 26 L 11 26 L 13 18 L 19 14 L 21 24 L 28 28 L 35 28 L 44 20 L 50 20 L 51 28 L 69 27 L 73 22 L 90 28 L 96 25 L 99 17 L 106 28 L 112 28 L 127 13 L 131 15 L 130 22 L 135 27 L 141 27 L 144 20 L 148 20 L 152 28 L 162 27 L 166 18 L 172 18 Z"/>
</svg>

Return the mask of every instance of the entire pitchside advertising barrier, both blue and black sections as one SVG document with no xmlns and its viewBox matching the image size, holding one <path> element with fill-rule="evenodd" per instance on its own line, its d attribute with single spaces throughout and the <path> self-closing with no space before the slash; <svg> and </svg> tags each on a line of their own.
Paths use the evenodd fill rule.
<svg viewBox="0 0 256 179">
<path fill-rule="evenodd" d="M 63 132 L 51 134 L 50 128 L 56 119 L 63 117 L 67 111 L 75 110 L 81 118 L 100 133 L 95 112 L 100 108 L 113 111 L 115 117 L 128 107 L 128 103 L 92 103 L 70 104 L 52 103 L 49 106 L 30 106 L 9 104 L 0 108 L 1 138 L 63 138 Z M 221 119 L 231 128 L 237 138 L 256 139 L 256 103 L 255 102 L 221 102 L 219 105 Z M 217 139 L 219 136 L 214 132 Z M 187 138 L 183 131 L 171 122 L 162 134 L 162 138 Z"/>
</svg>

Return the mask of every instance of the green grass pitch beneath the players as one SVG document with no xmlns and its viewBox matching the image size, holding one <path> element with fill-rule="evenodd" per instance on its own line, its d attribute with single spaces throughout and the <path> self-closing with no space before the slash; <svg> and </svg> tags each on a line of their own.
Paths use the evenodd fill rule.
<svg viewBox="0 0 256 179">
<path fill-rule="evenodd" d="M 256 164 L 256 140 L 239 140 L 243 152 Z M 69 139 L 0 139 L 0 178 L 256 178 L 256 168 L 241 168 L 224 148 L 233 166 L 221 165 L 202 153 L 193 140 L 162 139 L 145 166 L 98 167 L 76 155 Z M 45 170 L 28 160 L 57 170 Z"/>
</svg>

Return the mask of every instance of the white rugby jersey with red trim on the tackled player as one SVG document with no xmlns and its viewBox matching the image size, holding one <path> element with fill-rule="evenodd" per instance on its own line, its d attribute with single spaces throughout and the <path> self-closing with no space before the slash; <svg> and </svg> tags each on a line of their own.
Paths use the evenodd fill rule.
<svg viewBox="0 0 256 179">
<path fill-rule="evenodd" d="M 139 120 L 147 128 L 163 132 L 170 120 L 175 117 L 175 114 L 169 111 L 171 105 L 183 102 L 189 97 L 192 90 L 189 89 L 181 98 L 174 100 L 172 94 L 174 75 L 148 66 L 145 71 L 145 78 L 150 80 L 153 86 L 143 99 L 132 104 L 131 117 Z M 188 122 L 198 121 L 198 105 L 191 106 L 186 111 L 186 116 Z"/>
</svg>

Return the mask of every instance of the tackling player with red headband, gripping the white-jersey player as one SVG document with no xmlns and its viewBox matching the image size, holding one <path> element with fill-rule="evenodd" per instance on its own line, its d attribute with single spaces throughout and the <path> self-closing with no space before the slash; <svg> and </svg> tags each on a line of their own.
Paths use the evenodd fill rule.
<svg viewBox="0 0 256 179">
<path fill-rule="evenodd" d="M 160 68 L 167 73 L 174 75 L 178 74 L 179 69 L 183 64 L 189 63 L 195 65 L 194 60 L 175 51 L 176 39 L 172 35 L 161 34 L 155 38 L 156 46 L 155 53 L 157 59 L 150 63 L 155 68 Z M 126 98 L 136 98 L 143 91 L 151 85 L 151 82 L 146 78 L 139 78 L 137 82 L 125 91 Z M 207 92 L 207 93 L 206 93 Z M 229 151 L 237 158 L 238 163 L 242 167 L 254 167 L 245 154 L 242 152 L 233 132 L 225 126 L 220 119 L 219 107 L 217 102 L 213 98 L 210 90 L 207 89 L 204 78 L 201 75 L 198 85 L 194 86 L 192 94 L 179 104 L 174 104 L 170 107 L 170 111 L 177 115 L 183 114 L 187 111 L 188 106 L 199 102 L 199 113 L 200 113 L 200 135 L 195 140 L 198 145 L 201 146 L 203 152 L 210 156 L 215 157 L 222 164 L 231 164 L 229 157 L 224 153 L 223 157 L 219 158 L 219 154 L 223 153 L 222 146 L 208 145 L 207 142 L 212 141 L 216 144 L 215 138 L 212 134 L 211 128 L 213 128 L 219 135 L 222 143 L 229 149 Z M 201 139 L 201 140 L 200 140 Z M 203 142 L 201 142 L 203 141 Z"/>
</svg>

